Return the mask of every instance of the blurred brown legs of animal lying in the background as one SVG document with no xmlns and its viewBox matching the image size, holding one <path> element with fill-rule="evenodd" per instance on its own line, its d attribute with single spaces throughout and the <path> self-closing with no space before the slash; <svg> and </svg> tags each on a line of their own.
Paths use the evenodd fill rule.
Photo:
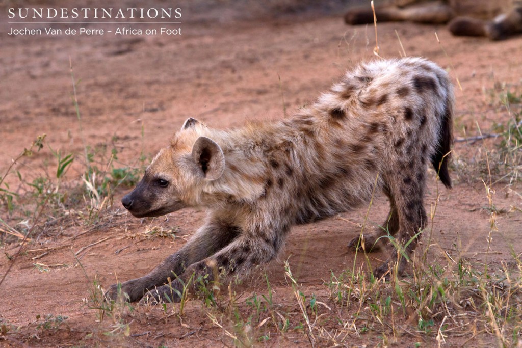
<svg viewBox="0 0 522 348">
<path fill-rule="evenodd" d="M 376 0 L 378 22 L 445 24 L 457 36 L 503 40 L 522 33 L 522 0 Z M 370 1 L 345 14 L 349 25 L 373 23 Z"/>
</svg>

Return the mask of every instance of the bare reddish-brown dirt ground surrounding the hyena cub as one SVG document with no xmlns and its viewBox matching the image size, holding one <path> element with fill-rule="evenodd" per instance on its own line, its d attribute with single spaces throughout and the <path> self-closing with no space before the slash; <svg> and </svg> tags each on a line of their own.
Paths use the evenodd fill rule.
<svg viewBox="0 0 522 348">
<path fill-rule="evenodd" d="M 45 147 L 15 166 L 24 177 L 42 173 L 53 177 L 56 160 L 52 148 L 75 154 L 67 179 L 78 181 L 85 171 L 84 142 L 92 148 L 107 147 L 109 153 L 111 148 L 117 149 L 115 166 L 136 167 L 142 152 L 150 160 L 187 117 L 218 128 L 238 126 L 246 119 L 282 118 L 283 100 L 286 112 L 292 112 L 313 100 L 345 69 L 378 59 L 373 53 L 374 28 L 347 27 L 342 12 L 308 11 L 303 15 L 245 19 L 226 6 L 205 13 L 199 10 L 193 6 L 192 12 L 188 11 L 181 25 L 183 34 L 173 37 L 13 37 L 6 34 L 10 26 L 2 19 L 0 173 L 3 175 L 11 160 L 41 134 L 46 134 Z M 478 135 L 477 126 L 488 133 L 496 123 L 507 122 L 509 115 L 497 105 L 495 91 L 502 87 L 520 90 L 522 37 L 488 42 L 452 37 L 443 26 L 383 23 L 378 25 L 379 54 L 400 56 L 398 38 L 407 55 L 432 59 L 449 71 L 456 85 L 458 79 L 462 86 L 456 89 L 458 137 Z M 70 62 L 74 78 L 79 80 L 76 93 L 81 130 L 72 102 Z M 494 146 L 492 142 L 486 145 Z M 456 163 L 463 166 L 478 161 L 483 151 L 482 142 L 458 142 Z M 468 164 L 475 168 L 473 163 Z M 430 172 L 425 198 L 428 210 L 440 194 L 433 228 L 437 247 L 431 248 L 430 258 L 460 254 L 481 263 L 490 231 L 490 214 L 484 209 L 489 201 L 482 182 L 488 181 L 488 176 L 473 170 L 454 170 L 452 176 L 453 190 L 437 189 L 435 175 Z M 15 191 L 22 189 L 14 173 L 6 182 Z M 493 235 L 493 252 L 488 257 L 493 268 L 500 270 L 502 262 L 511 262 L 511 248 L 515 254 L 522 253 L 518 241 L 522 214 L 513 209 L 522 208 L 522 199 L 516 186 L 499 182 L 493 188 L 494 205 L 503 213 L 497 217 L 499 231 Z M 135 306 L 128 337 L 103 334 L 107 330 L 97 322 L 96 310 L 89 309 L 84 301 L 90 296 L 93 280 L 97 278 L 106 288 L 116 279 L 140 277 L 180 248 L 204 217 L 204 212 L 183 210 L 153 220 L 135 219 L 119 203 L 126 190 L 116 190 L 111 213 L 95 228 L 70 222 L 67 217 L 56 220 L 52 227 L 41 226 L 41 233 L 23 246 L 23 253 L 7 274 L 7 255 L 15 254 L 19 244 L 3 245 L 6 256 L 0 256 L 0 276 L 6 278 L 0 286 L 0 324 L 27 326 L 37 315 L 47 314 L 68 318 L 61 327 L 66 330 L 38 329 L 34 336 L 0 341 L 0 345 L 233 345 L 223 329 L 209 320 L 199 301 L 189 301 L 181 319 L 164 314 L 162 308 Z M 330 279 L 330 271 L 339 274 L 352 268 L 354 252 L 346 244 L 360 233 L 366 209 L 294 227 L 280 258 L 254 270 L 235 286 L 238 302 L 244 303 L 253 293 L 266 293 L 266 272 L 274 302 L 290 316 L 298 317 L 299 309 L 284 276 L 283 261 L 289 258 L 301 290 L 327 303 L 329 291 L 324 283 Z M 69 213 L 74 215 L 75 211 Z M 386 199 L 379 195 L 371 207 L 369 223 L 382 222 L 386 213 Z M 2 219 L 9 221 L 7 215 Z M 46 229 L 57 231 L 56 224 L 63 226 L 60 232 L 45 233 Z M 151 226 L 163 230 L 177 227 L 176 238 L 150 238 L 146 232 Z M 379 265 L 384 257 L 382 253 L 372 254 L 372 265 Z M 359 257 L 357 267 L 366 269 L 363 261 Z M 35 266 L 37 263 L 40 266 Z M 410 266 L 407 273 L 411 272 Z M 468 338 L 450 337 L 447 346 L 459 345 Z M 414 333 L 398 339 L 408 344 L 418 341 L 422 346 L 436 344 L 434 338 Z M 476 346 L 492 342 L 487 335 L 475 339 Z M 303 346 L 310 342 L 306 335 L 288 332 L 264 344 Z M 377 334 L 353 334 L 343 344 L 385 345 Z"/>
</svg>

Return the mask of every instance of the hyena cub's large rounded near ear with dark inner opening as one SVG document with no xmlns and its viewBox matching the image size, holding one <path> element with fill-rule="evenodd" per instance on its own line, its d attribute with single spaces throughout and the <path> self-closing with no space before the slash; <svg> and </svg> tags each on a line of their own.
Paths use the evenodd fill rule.
<svg viewBox="0 0 522 348">
<path fill-rule="evenodd" d="M 218 179 L 225 169 L 223 150 L 215 141 L 207 137 L 196 139 L 192 146 L 192 159 L 209 181 Z"/>
</svg>

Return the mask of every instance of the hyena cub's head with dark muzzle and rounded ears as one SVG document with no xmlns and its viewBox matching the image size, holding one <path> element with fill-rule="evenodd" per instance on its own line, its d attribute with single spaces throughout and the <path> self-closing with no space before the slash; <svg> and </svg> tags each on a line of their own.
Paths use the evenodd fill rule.
<svg viewBox="0 0 522 348">
<path fill-rule="evenodd" d="M 221 177 L 225 166 L 219 145 L 199 135 L 204 128 L 196 119 L 187 119 L 171 145 L 152 160 L 136 188 L 122 198 L 135 217 L 157 217 L 200 205 L 203 190 Z"/>
</svg>

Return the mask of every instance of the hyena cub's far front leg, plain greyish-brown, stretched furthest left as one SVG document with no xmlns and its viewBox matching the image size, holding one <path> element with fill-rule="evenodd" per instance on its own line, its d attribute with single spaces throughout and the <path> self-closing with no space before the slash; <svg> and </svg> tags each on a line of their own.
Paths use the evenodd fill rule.
<svg viewBox="0 0 522 348">
<path fill-rule="evenodd" d="M 128 280 L 121 284 L 121 293 L 128 295 L 128 301 L 134 302 L 157 286 L 162 286 L 168 279 L 185 272 L 186 268 L 195 262 L 205 259 L 217 250 L 222 249 L 241 233 L 239 227 L 226 221 L 210 221 L 200 227 L 179 251 L 170 255 L 159 266 L 144 277 Z M 118 296 L 118 284 L 113 284 L 105 293 L 110 299 Z"/>
</svg>

